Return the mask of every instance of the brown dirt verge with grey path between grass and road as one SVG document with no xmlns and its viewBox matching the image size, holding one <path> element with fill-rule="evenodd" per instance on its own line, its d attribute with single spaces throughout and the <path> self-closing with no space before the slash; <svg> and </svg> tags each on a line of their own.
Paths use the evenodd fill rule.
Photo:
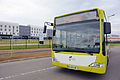
<svg viewBox="0 0 120 80">
<path fill-rule="evenodd" d="M 50 48 L 0 50 L 0 62 L 51 56 Z"/>
</svg>

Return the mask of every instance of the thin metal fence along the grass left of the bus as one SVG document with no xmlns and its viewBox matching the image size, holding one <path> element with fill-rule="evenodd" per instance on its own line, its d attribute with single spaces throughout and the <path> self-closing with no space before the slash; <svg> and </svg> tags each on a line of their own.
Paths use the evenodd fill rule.
<svg viewBox="0 0 120 80">
<path fill-rule="evenodd" d="M 49 48 L 51 40 L 44 40 L 44 44 L 39 44 L 39 39 L 0 39 L 0 50 L 8 49 L 30 49 L 30 48 Z"/>
</svg>

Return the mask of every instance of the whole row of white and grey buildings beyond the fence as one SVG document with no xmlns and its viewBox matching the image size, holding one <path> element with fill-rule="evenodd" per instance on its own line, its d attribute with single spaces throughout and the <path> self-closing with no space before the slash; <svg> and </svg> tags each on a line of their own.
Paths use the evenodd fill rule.
<svg viewBox="0 0 120 80">
<path fill-rule="evenodd" d="M 43 33 L 43 27 L 36 25 L 19 25 L 18 23 L 0 22 L 0 38 L 31 38 L 39 39 Z M 46 33 L 42 34 L 44 38 L 52 37 L 52 29 L 47 29 Z M 2 37 L 1 37 L 2 36 Z"/>
</svg>

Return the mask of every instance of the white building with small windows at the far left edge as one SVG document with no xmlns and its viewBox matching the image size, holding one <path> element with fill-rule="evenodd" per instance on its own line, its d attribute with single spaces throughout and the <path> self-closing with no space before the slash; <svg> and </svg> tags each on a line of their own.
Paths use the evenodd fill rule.
<svg viewBox="0 0 120 80">
<path fill-rule="evenodd" d="M 11 22 L 0 22 L 0 35 L 19 36 L 19 24 Z"/>
</svg>

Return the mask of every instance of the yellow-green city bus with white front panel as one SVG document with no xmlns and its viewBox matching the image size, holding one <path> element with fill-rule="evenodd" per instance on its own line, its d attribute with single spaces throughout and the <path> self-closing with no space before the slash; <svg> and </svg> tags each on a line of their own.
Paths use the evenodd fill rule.
<svg viewBox="0 0 120 80">
<path fill-rule="evenodd" d="M 88 9 L 54 18 L 52 64 L 68 69 L 105 74 L 111 33 L 102 9 Z"/>
</svg>

